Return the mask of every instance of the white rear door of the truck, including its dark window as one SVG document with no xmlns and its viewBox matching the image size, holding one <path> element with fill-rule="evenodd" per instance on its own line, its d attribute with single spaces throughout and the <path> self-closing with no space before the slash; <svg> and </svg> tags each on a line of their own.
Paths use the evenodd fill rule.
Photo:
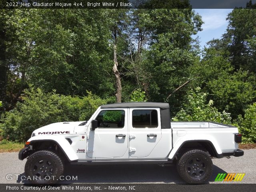
<svg viewBox="0 0 256 192">
<path fill-rule="evenodd" d="M 160 141 L 159 108 L 129 109 L 129 155 L 147 157 Z"/>
</svg>

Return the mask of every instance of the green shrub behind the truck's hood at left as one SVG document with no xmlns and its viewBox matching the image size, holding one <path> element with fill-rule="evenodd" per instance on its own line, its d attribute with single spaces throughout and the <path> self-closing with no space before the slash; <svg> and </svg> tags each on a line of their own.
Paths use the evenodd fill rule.
<svg viewBox="0 0 256 192">
<path fill-rule="evenodd" d="M 80 98 L 59 95 L 54 91 L 44 93 L 39 88 L 25 90 L 22 102 L 18 102 L 16 108 L 1 118 L 2 137 L 11 141 L 24 141 L 37 128 L 54 122 L 88 120 L 106 102 L 91 92 Z"/>
</svg>

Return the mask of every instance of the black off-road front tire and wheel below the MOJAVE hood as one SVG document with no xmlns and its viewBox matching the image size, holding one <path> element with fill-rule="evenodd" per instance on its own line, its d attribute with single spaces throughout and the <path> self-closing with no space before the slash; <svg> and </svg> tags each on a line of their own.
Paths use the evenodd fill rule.
<svg viewBox="0 0 256 192">
<path fill-rule="evenodd" d="M 33 153 L 25 164 L 25 175 L 34 184 L 54 184 L 64 172 L 61 158 L 52 151 Z M 33 179 L 36 176 L 37 179 Z M 30 180 L 31 179 L 31 180 Z"/>
</svg>

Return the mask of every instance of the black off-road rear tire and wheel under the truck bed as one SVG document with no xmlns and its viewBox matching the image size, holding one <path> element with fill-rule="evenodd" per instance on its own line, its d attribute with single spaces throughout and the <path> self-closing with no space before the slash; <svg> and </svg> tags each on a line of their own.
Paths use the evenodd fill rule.
<svg viewBox="0 0 256 192">
<path fill-rule="evenodd" d="M 209 154 L 199 149 L 185 151 L 177 161 L 178 174 L 191 184 L 204 183 L 211 176 L 212 169 Z"/>
</svg>

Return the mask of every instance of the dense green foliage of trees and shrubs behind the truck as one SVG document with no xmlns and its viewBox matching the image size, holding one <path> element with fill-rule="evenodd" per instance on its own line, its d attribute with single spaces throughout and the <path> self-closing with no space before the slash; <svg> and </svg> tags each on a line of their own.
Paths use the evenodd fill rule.
<svg viewBox="0 0 256 192">
<path fill-rule="evenodd" d="M 236 123 L 255 142 L 252 6 L 230 12 L 226 33 L 203 50 L 192 38 L 203 22 L 190 7 L 0 10 L 2 138 L 86 120 L 116 97 L 168 102 L 173 120 Z"/>
</svg>

